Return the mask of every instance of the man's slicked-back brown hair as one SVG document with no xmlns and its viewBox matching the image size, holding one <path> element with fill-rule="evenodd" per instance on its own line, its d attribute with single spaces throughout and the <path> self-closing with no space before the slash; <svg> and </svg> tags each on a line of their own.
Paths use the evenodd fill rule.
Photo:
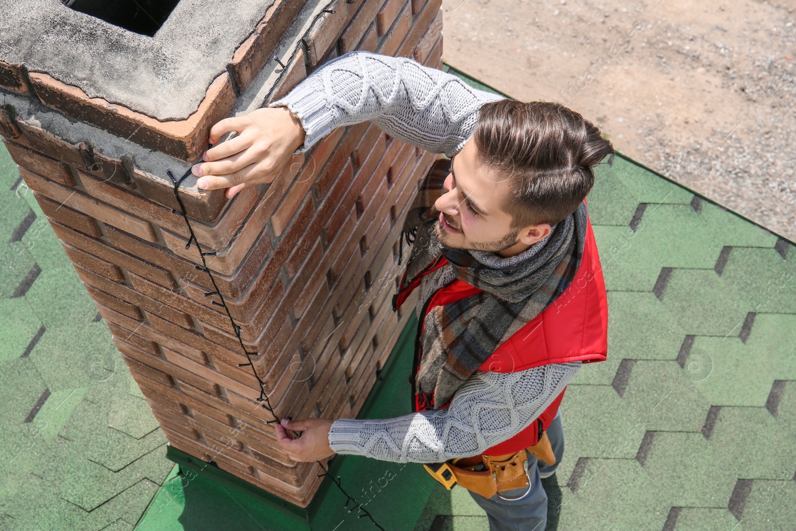
<svg viewBox="0 0 796 531">
<path fill-rule="evenodd" d="M 594 124 L 546 101 L 485 103 L 474 139 L 478 158 L 509 181 L 501 207 L 513 229 L 552 226 L 575 212 L 594 185 L 592 168 L 614 155 Z"/>
</svg>

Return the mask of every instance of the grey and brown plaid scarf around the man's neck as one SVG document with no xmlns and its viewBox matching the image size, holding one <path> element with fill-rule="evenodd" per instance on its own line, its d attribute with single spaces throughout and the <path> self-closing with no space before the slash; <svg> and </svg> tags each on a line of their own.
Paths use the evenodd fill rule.
<svg viewBox="0 0 796 531">
<path fill-rule="evenodd" d="M 569 287 L 580 267 L 587 223 L 586 204 L 581 202 L 528 260 L 501 270 L 487 267 L 468 250 L 444 247 L 436 237 L 439 211 L 432 205 L 444 193 L 449 167 L 450 160 L 446 159 L 431 167 L 407 214 L 399 244 L 402 248 L 404 236 L 413 243 L 399 292 L 439 256 L 447 259 L 445 267 L 453 267 L 457 279 L 482 290 L 455 303 L 436 306 L 425 318 L 415 388 L 426 403 L 433 398 L 435 409 L 446 405 L 502 342 Z"/>
</svg>

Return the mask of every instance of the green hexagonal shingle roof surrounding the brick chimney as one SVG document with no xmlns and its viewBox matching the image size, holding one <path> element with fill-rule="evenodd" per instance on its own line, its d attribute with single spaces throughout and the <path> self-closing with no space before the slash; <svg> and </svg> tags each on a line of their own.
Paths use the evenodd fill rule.
<svg viewBox="0 0 796 531">
<path fill-rule="evenodd" d="M 794 529 L 794 244 L 621 156 L 599 166 L 587 202 L 609 353 L 564 396 L 566 451 L 543 481 L 548 529 Z M 0 529 L 306 529 L 213 479 L 187 481 L 166 459 L 5 148 L 0 208 Z M 394 354 L 369 416 L 408 412 L 410 347 Z M 488 529 L 465 490 L 419 465 L 342 463 L 343 486 L 371 499 L 385 529 Z M 387 470 L 394 478 L 368 496 Z M 373 529 L 343 502 L 329 490 L 312 529 Z"/>
</svg>

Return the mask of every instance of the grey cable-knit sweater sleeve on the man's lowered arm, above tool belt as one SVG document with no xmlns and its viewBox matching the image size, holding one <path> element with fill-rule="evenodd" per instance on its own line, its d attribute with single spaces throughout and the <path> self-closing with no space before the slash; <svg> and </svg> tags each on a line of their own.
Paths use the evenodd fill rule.
<svg viewBox="0 0 796 531">
<path fill-rule="evenodd" d="M 329 443 L 338 454 L 396 463 L 441 463 L 478 455 L 527 428 L 580 365 L 572 361 L 517 373 L 476 371 L 447 408 L 385 420 L 336 420 Z"/>
</svg>

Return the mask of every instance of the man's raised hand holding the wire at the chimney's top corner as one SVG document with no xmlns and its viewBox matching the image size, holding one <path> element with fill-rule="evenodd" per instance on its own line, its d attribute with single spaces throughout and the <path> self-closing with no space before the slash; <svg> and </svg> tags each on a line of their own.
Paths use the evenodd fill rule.
<svg viewBox="0 0 796 531">
<path fill-rule="evenodd" d="M 207 150 L 191 168 L 200 189 L 226 188 L 232 198 L 240 190 L 267 184 L 291 162 L 304 143 L 305 131 L 298 116 L 287 107 L 261 107 L 248 115 L 225 118 L 210 128 L 210 143 L 236 131 L 237 136 Z"/>
</svg>

